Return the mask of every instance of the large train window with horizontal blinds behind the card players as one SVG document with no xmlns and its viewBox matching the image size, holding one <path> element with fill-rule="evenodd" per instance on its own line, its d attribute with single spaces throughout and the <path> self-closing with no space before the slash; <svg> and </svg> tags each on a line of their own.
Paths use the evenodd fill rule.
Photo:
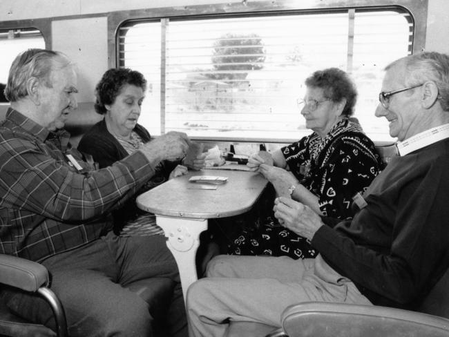
<svg viewBox="0 0 449 337">
<path fill-rule="evenodd" d="M 310 133 L 296 106 L 305 78 L 338 67 L 359 90 L 354 117 L 390 141 L 377 92 L 383 68 L 412 52 L 413 23 L 399 8 L 163 18 L 127 21 L 117 41 L 119 66 L 149 81 L 140 121 L 153 135 L 290 142 Z"/>
</svg>

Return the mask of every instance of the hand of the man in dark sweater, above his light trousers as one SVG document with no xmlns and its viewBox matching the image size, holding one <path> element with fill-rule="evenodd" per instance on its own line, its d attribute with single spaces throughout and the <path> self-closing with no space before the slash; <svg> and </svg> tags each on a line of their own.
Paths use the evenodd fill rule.
<svg viewBox="0 0 449 337">
<path fill-rule="evenodd" d="M 309 240 L 323 226 L 320 216 L 309 206 L 289 198 L 276 198 L 273 211 L 280 224 Z"/>
</svg>

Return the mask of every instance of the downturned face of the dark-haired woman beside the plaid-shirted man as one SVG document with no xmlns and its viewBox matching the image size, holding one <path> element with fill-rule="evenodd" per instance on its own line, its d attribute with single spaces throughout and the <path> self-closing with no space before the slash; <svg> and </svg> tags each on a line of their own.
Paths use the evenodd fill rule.
<svg viewBox="0 0 449 337">
<path fill-rule="evenodd" d="M 144 90 L 139 86 L 125 84 L 111 105 L 106 105 L 110 126 L 118 135 L 127 136 L 135 128 L 144 100 Z"/>
</svg>

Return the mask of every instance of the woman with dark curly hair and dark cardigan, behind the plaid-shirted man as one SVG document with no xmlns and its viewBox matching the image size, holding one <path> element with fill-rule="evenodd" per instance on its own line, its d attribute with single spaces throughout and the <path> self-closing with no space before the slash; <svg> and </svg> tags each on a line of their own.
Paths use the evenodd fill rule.
<svg viewBox="0 0 449 337">
<path fill-rule="evenodd" d="M 104 73 L 95 88 L 95 111 L 104 115 L 104 119 L 95 124 L 82 137 L 78 150 L 93 156 L 99 168 L 112 165 L 127 155 L 136 151 L 151 136 L 146 128 L 137 124 L 140 117 L 142 102 L 145 97 L 146 79 L 142 73 L 129 68 L 112 68 Z M 202 168 L 204 158 L 189 166 L 195 170 Z M 161 162 L 156 168 L 157 173 L 145 186 L 144 191 L 157 184 L 187 173 L 187 166 L 182 162 Z M 140 228 L 147 224 L 146 229 L 153 233 L 162 233 L 162 229 L 155 226 L 155 217 L 151 213 L 140 211 L 135 206 L 135 199 L 129 200 L 125 206 L 114 213 L 114 231 L 120 234 L 125 230 Z M 149 224 L 154 224 L 153 227 Z M 126 233 L 122 232 L 122 235 Z"/>
</svg>

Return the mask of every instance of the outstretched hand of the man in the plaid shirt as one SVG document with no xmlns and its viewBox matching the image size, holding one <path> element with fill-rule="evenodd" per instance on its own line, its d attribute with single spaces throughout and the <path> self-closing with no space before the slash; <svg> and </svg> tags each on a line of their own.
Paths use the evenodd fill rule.
<svg viewBox="0 0 449 337">
<path fill-rule="evenodd" d="M 180 160 L 187 153 L 190 139 L 185 133 L 170 131 L 144 144 L 140 150 L 150 161 Z"/>
</svg>

